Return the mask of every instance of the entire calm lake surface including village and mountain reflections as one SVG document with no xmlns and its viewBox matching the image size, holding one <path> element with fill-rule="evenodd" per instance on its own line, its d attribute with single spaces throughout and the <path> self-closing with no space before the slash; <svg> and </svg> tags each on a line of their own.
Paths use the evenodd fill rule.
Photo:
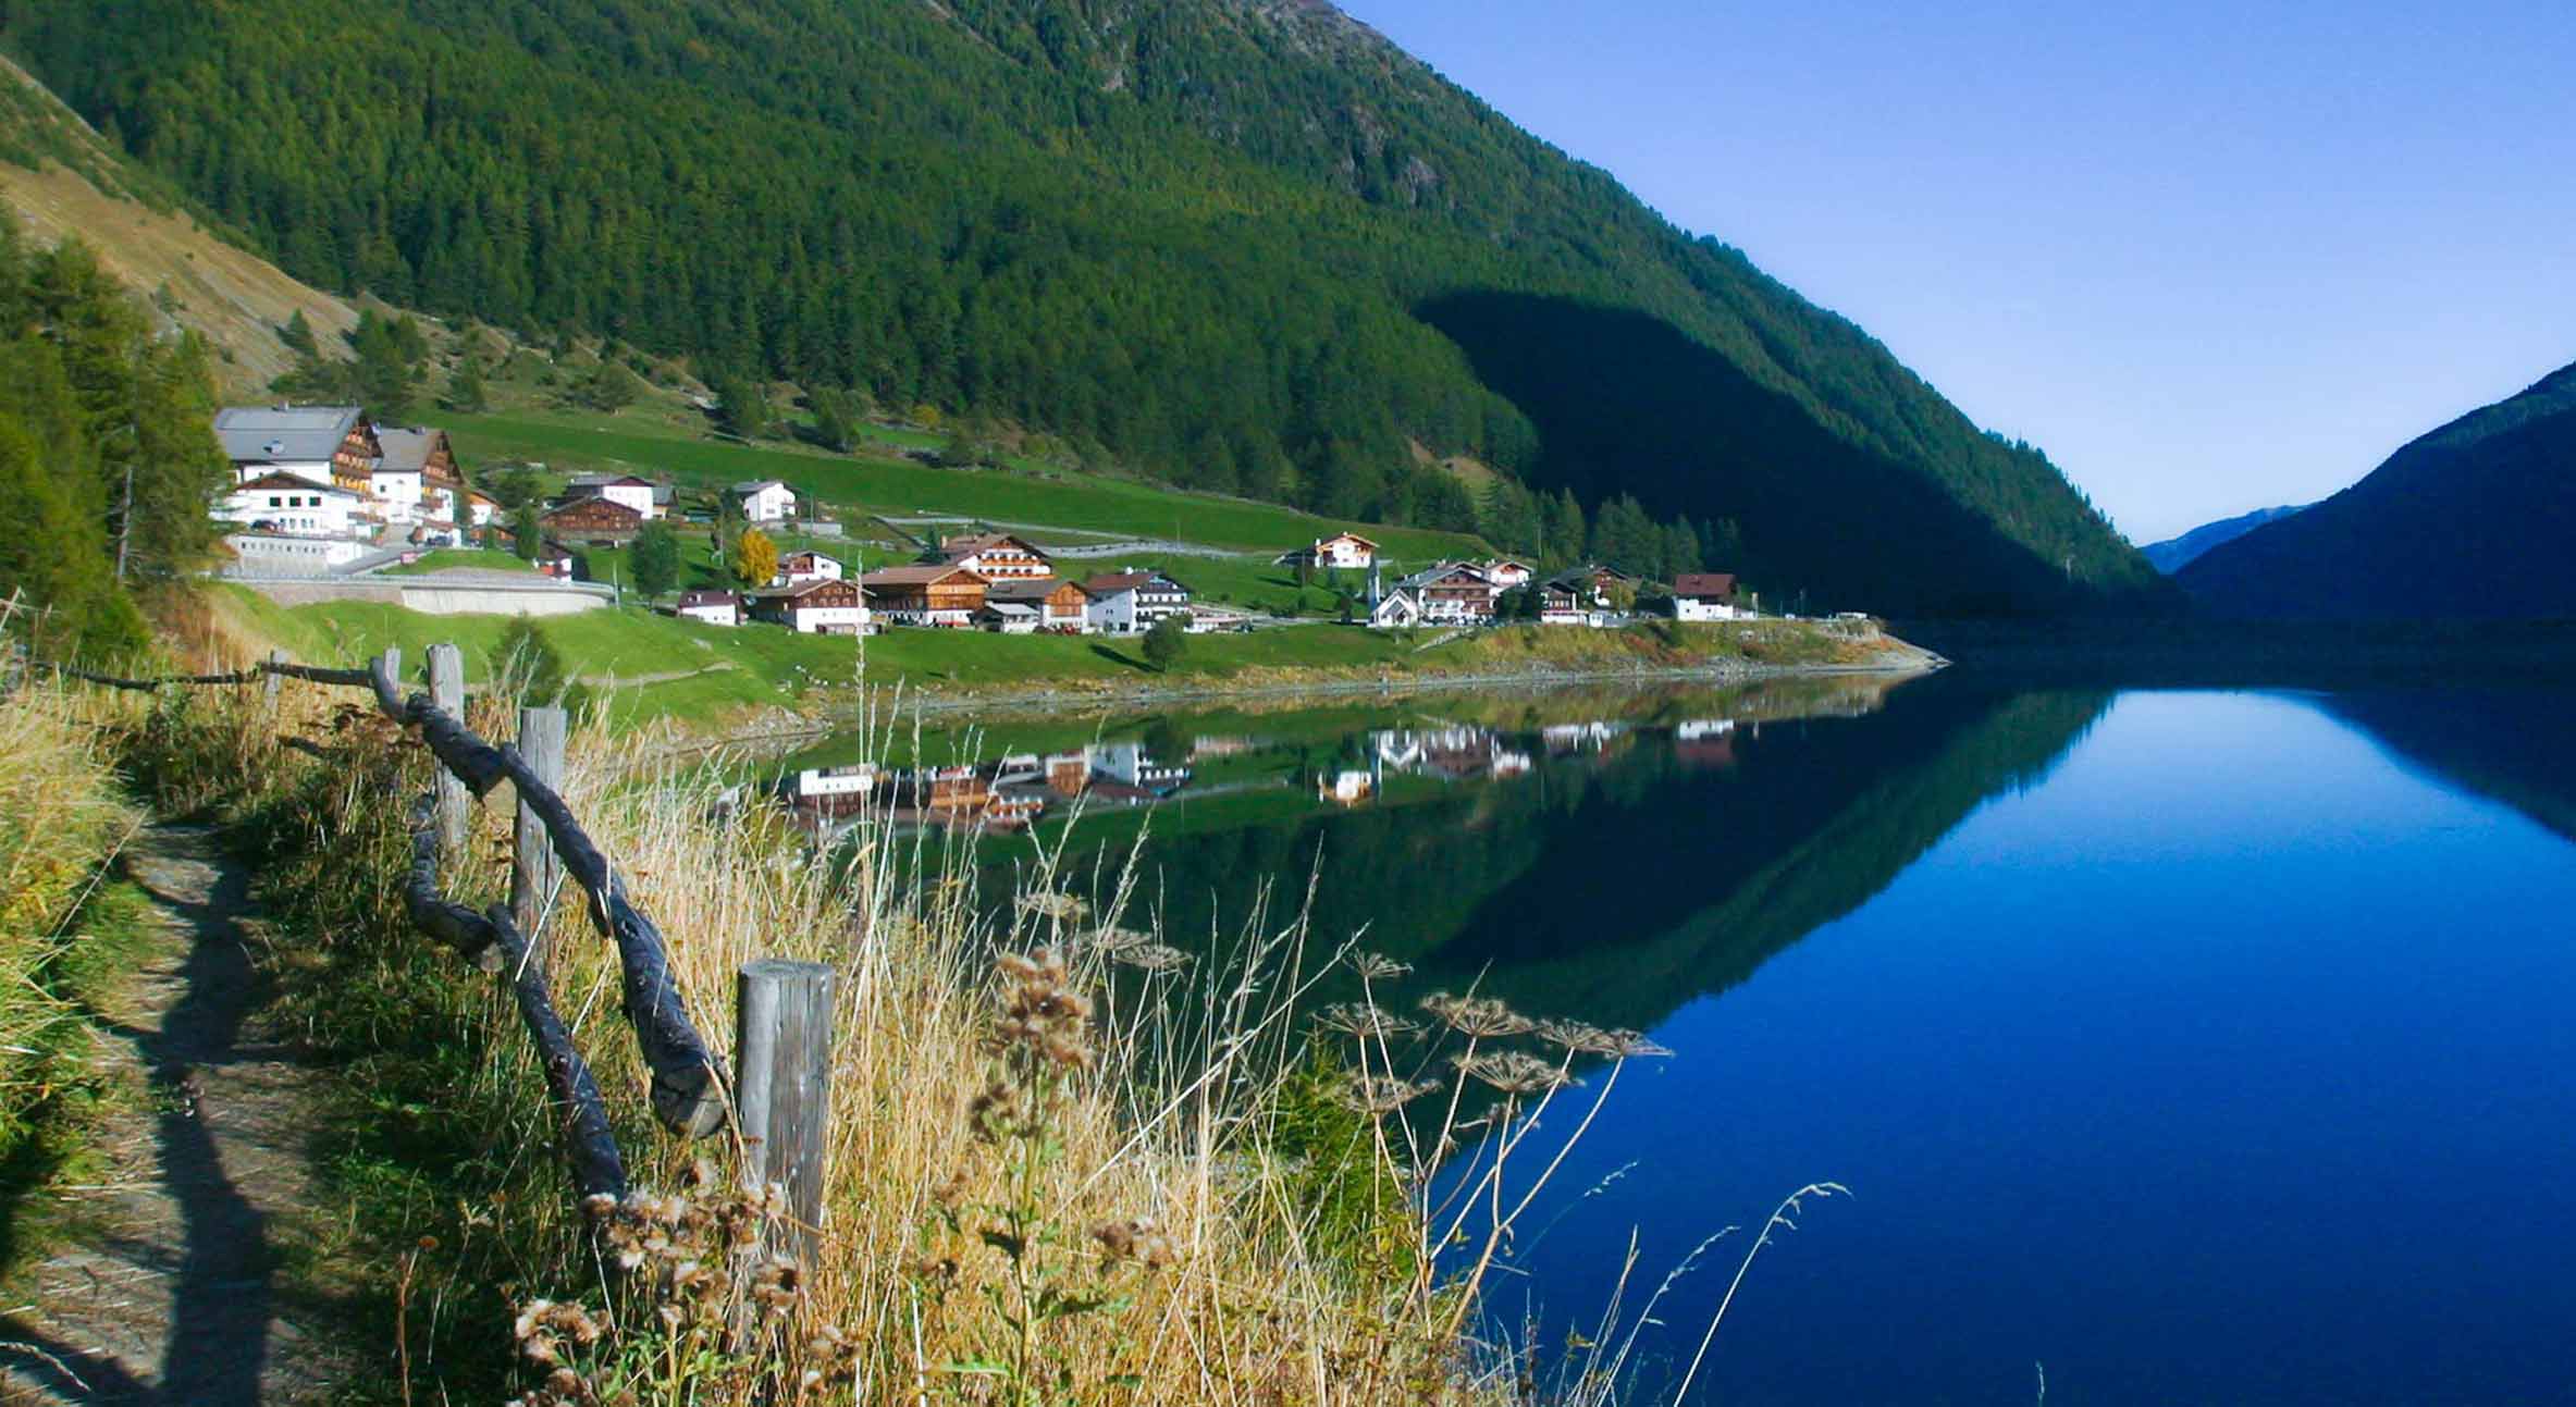
<svg viewBox="0 0 2576 1407">
<path fill-rule="evenodd" d="M 992 727 L 971 747 L 1012 763 L 909 801 L 1028 827 L 979 843 L 997 866 L 1146 832 L 1175 933 L 1316 876 L 1319 933 L 1365 928 L 1406 992 L 1669 1046 L 1494 1281 L 1543 1363 L 1631 1234 L 1636 1306 L 1834 1180 L 1695 1402 L 2009 1404 L 2043 1371 L 2050 1404 L 2571 1402 L 2568 719 L 2545 691 L 1950 670 Z M 1674 1281 L 1638 1402 L 1747 1234 Z"/>
</svg>

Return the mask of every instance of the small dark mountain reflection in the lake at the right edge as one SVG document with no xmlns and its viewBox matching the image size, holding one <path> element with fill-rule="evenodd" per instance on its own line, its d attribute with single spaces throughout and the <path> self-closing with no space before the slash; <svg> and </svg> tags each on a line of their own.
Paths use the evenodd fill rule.
<svg viewBox="0 0 2576 1407">
<path fill-rule="evenodd" d="M 2416 688 L 2318 701 L 2398 758 L 2576 840 L 2576 727 L 2566 688 Z"/>
</svg>

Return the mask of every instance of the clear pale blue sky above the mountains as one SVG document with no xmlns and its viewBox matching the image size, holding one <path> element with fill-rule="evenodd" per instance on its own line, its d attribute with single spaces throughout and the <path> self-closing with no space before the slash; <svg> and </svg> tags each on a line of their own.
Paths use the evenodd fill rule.
<svg viewBox="0 0 2576 1407">
<path fill-rule="evenodd" d="M 2136 541 L 2576 361 L 2563 0 L 1342 0 Z"/>
</svg>

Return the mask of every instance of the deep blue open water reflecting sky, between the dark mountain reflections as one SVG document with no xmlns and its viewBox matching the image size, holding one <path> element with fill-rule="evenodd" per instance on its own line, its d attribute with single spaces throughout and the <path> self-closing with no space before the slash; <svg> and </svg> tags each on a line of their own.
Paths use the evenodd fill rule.
<svg viewBox="0 0 2576 1407">
<path fill-rule="evenodd" d="M 1674 1010 L 1499 1309 L 1553 1348 L 1631 1229 L 1651 1288 L 1837 1180 L 1695 1399 L 2576 1402 L 2576 845 L 2324 704 L 2117 696 Z M 1741 1247 L 1664 1301 L 1649 1386 Z"/>
</svg>

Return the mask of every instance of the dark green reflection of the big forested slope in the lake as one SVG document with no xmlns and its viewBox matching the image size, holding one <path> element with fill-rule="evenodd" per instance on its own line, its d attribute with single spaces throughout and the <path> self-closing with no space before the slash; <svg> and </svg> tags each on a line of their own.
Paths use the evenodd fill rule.
<svg viewBox="0 0 2576 1407">
<path fill-rule="evenodd" d="M 1865 902 L 1986 796 L 2035 781 L 2105 704 L 1932 680 L 1857 722 L 1350 734 L 1306 745 L 1301 770 L 1327 796 L 1365 776 L 1370 804 L 1157 825 L 1146 892 L 1170 933 L 1239 933 L 1265 886 L 1293 905 L 1316 876 L 1324 943 L 1365 928 L 1363 946 L 1417 964 L 1419 982 L 1481 974 L 1546 1015 L 1651 1028 Z M 1391 760 L 1417 768 L 1412 794 L 1386 781 Z M 1419 783 L 1443 768 L 1473 781 Z"/>
</svg>

